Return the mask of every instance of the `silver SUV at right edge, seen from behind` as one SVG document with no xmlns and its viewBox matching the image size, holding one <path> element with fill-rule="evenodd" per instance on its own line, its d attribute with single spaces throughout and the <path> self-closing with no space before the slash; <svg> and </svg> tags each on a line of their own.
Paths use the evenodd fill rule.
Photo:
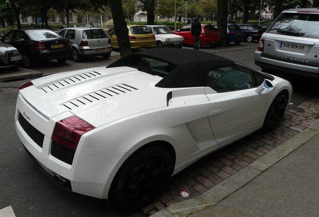
<svg viewBox="0 0 319 217">
<path fill-rule="evenodd" d="M 265 72 L 319 77 L 319 10 L 283 11 L 261 36 L 255 64 Z"/>
</svg>

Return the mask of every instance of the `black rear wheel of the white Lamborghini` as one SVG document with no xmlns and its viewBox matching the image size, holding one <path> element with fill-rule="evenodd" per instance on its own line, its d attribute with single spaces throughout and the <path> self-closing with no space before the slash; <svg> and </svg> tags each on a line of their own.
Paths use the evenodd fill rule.
<svg viewBox="0 0 319 217">
<path fill-rule="evenodd" d="M 155 144 L 141 148 L 129 156 L 116 173 L 109 200 L 128 210 L 142 208 L 162 191 L 173 168 L 166 148 Z"/>
</svg>

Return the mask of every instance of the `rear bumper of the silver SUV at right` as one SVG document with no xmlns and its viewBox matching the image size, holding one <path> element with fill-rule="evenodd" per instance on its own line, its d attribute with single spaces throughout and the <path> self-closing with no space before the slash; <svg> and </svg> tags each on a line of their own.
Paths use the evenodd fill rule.
<svg viewBox="0 0 319 217">
<path fill-rule="evenodd" d="M 289 74 L 292 73 L 319 77 L 319 68 L 316 66 L 297 64 L 293 62 L 287 62 L 284 60 L 272 59 L 270 57 L 264 57 L 263 52 L 261 51 L 255 51 L 255 64 L 260 66 L 263 69 L 263 71 L 277 71 Z"/>
</svg>

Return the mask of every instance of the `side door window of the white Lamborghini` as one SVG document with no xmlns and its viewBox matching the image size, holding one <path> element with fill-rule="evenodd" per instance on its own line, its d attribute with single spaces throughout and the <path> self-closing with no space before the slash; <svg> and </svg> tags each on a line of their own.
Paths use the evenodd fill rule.
<svg viewBox="0 0 319 217">
<path fill-rule="evenodd" d="M 217 67 L 209 71 L 207 85 L 217 92 L 247 89 L 256 86 L 251 70 L 238 66 Z"/>
</svg>

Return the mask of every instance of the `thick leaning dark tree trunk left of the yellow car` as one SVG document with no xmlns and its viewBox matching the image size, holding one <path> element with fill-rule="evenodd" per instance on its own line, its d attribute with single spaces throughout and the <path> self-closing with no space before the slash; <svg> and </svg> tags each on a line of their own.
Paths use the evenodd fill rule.
<svg viewBox="0 0 319 217">
<path fill-rule="evenodd" d="M 128 38 L 128 29 L 123 13 L 122 1 L 111 0 L 111 12 L 114 22 L 114 31 L 117 37 L 118 49 L 121 57 L 132 53 Z"/>
</svg>

